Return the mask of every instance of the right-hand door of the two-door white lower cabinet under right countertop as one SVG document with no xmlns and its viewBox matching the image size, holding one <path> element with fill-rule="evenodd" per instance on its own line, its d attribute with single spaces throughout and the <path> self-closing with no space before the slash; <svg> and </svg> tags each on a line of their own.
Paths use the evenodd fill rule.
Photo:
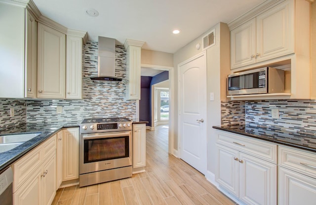
<svg viewBox="0 0 316 205">
<path fill-rule="evenodd" d="M 239 199 L 248 205 L 276 205 L 276 165 L 243 153 L 238 162 Z"/>
</svg>

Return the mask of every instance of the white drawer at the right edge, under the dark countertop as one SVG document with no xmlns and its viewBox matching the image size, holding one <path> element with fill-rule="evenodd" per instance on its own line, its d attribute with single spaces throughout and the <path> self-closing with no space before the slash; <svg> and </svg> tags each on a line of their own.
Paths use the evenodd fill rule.
<svg viewBox="0 0 316 205">
<path fill-rule="evenodd" d="M 279 146 L 279 166 L 316 178 L 316 153 Z"/>
</svg>

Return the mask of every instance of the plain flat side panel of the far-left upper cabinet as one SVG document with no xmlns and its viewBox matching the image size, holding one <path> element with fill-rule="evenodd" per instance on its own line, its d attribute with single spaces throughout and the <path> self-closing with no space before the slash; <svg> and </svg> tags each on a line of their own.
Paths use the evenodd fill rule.
<svg viewBox="0 0 316 205">
<path fill-rule="evenodd" d="M 0 98 L 24 98 L 25 8 L 0 2 Z"/>
</svg>

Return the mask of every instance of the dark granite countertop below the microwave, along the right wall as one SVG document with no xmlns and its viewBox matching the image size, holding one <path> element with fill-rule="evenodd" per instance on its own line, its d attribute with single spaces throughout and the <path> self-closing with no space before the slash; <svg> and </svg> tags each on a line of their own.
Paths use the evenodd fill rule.
<svg viewBox="0 0 316 205">
<path fill-rule="evenodd" d="M 265 126 L 245 125 L 213 126 L 213 128 L 316 152 L 316 135 L 314 133 L 294 133 Z"/>
</svg>

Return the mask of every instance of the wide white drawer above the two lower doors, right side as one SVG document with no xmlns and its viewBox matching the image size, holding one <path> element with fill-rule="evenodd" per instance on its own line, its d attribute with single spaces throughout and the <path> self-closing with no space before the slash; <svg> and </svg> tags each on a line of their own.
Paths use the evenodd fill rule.
<svg viewBox="0 0 316 205">
<path fill-rule="evenodd" d="M 217 143 L 237 149 L 240 152 L 277 163 L 277 145 L 260 139 L 218 131 Z"/>
</svg>

